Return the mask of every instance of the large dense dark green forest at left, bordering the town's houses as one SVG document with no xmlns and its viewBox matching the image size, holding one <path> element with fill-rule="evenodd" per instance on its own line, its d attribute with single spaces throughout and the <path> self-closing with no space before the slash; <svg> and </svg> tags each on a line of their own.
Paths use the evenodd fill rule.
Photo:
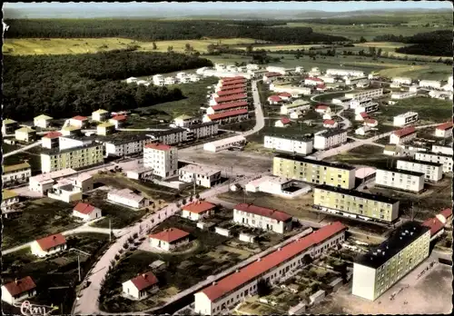
<svg viewBox="0 0 454 316">
<path fill-rule="evenodd" d="M 180 100 L 180 89 L 125 84 L 130 76 L 210 66 L 185 54 L 102 53 L 4 56 L 4 117 L 27 121 L 38 114 L 54 118 L 89 115 L 98 108 L 133 109 Z"/>
</svg>

